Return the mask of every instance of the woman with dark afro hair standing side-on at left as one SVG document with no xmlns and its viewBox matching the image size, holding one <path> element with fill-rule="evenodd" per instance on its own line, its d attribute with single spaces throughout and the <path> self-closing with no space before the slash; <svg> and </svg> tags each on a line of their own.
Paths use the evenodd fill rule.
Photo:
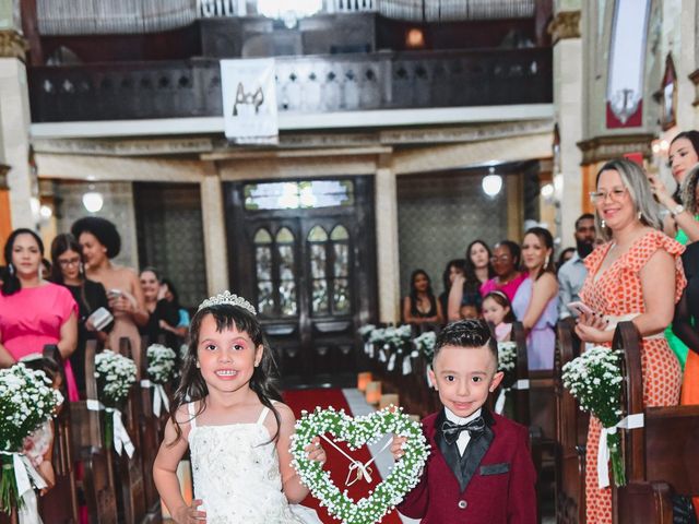
<svg viewBox="0 0 699 524">
<path fill-rule="evenodd" d="M 85 261 L 85 276 L 105 286 L 109 309 L 114 314 L 114 329 L 105 346 L 119 352 L 119 340 L 128 337 L 137 369 L 141 369 L 141 335 L 139 326 L 149 321 L 143 291 L 135 272 L 111 262 L 121 250 L 121 237 L 116 226 L 98 216 L 75 221 L 71 233 L 80 242 Z"/>
</svg>

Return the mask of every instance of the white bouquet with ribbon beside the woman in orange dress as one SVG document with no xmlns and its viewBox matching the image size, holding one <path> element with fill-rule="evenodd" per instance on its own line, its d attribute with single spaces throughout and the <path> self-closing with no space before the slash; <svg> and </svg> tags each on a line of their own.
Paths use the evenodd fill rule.
<svg viewBox="0 0 699 524">
<path fill-rule="evenodd" d="M 621 439 L 617 431 L 621 419 L 621 368 L 620 352 L 604 346 L 587 349 L 578 358 L 562 367 L 564 385 L 576 397 L 580 409 L 594 415 L 602 424 L 612 458 L 612 474 L 616 486 L 626 484 Z M 600 453 L 604 443 L 601 438 Z M 603 464 L 606 472 L 606 462 Z"/>
</svg>

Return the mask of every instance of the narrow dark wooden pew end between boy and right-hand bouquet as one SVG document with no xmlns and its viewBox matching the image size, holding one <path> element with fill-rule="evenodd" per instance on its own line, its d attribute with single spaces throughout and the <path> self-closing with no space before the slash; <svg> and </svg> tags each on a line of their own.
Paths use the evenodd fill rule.
<svg viewBox="0 0 699 524">
<path fill-rule="evenodd" d="M 564 388 L 562 367 L 580 355 L 580 340 L 573 332 L 572 318 L 557 325 L 554 379 L 556 383 L 556 522 L 585 522 L 585 453 L 589 415 Z"/>
</svg>

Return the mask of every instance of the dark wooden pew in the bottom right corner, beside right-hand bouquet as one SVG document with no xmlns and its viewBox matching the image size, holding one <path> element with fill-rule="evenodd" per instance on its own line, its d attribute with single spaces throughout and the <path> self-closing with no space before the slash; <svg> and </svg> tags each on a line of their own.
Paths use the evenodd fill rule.
<svg viewBox="0 0 699 524">
<path fill-rule="evenodd" d="M 672 496 L 699 496 L 699 406 L 643 407 L 641 338 L 620 322 L 613 346 L 624 352 L 625 415 L 643 414 L 642 428 L 623 431 L 628 485 L 613 488 L 619 524 L 672 524 Z"/>
</svg>

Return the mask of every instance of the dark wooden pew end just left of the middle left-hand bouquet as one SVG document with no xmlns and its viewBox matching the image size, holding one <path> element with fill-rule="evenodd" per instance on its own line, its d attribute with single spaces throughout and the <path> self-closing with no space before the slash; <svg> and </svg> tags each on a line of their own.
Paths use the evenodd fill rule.
<svg viewBox="0 0 699 524">
<path fill-rule="evenodd" d="M 87 398 L 97 400 L 95 353 L 97 344 L 85 345 L 85 392 Z M 100 412 L 87 409 L 87 402 L 71 404 L 73 456 L 83 467 L 82 487 L 91 524 L 117 524 L 117 498 L 111 453 L 104 448 Z"/>
</svg>

